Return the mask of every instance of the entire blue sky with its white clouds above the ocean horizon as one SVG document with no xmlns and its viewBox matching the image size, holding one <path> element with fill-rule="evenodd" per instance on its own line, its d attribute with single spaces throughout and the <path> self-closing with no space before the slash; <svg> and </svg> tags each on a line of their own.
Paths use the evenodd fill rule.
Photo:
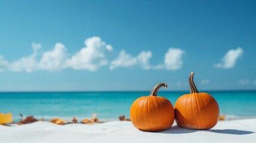
<svg viewBox="0 0 256 143">
<path fill-rule="evenodd" d="M 255 7 L 0 1 L 0 91 L 189 90 L 191 71 L 199 91 L 256 89 Z"/>
</svg>

